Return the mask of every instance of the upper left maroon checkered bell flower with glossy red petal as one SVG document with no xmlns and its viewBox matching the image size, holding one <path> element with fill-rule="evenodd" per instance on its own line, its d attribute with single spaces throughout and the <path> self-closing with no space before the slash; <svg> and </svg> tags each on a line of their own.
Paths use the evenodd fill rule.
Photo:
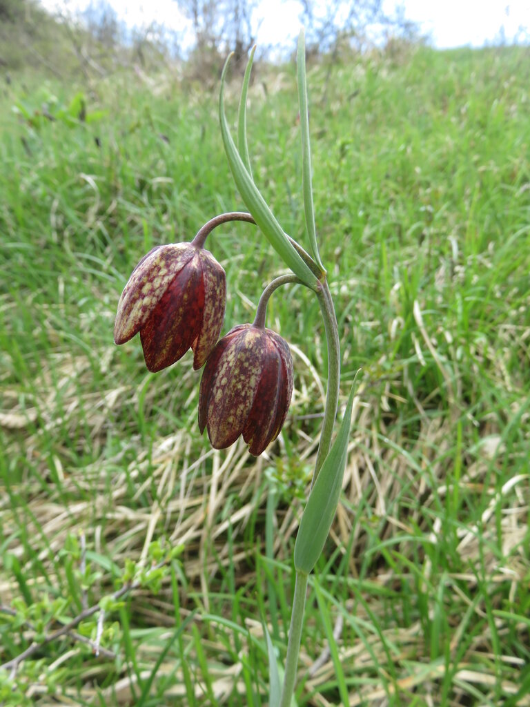
<svg viewBox="0 0 530 707">
<path fill-rule="evenodd" d="M 208 250 L 190 243 L 159 245 L 134 269 L 121 298 L 114 341 L 140 332 L 146 366 L 171 366 L 191 347 L 204 366 L 225 317 L 225 271 Z"/>
</svg>

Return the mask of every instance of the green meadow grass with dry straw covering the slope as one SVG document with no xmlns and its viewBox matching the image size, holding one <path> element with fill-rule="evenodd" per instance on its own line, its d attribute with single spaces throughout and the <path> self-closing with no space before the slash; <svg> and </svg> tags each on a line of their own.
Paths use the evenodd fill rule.
<svg viewBox="0 0 530 707">
<path fill-rule="evenodd" d="M 310 580 L 300 706 L 529 704 L 528 60 L 418 49 L 308 71 L 342 402 L 363 374 Z M 307 247 L 295 69 L 255 76 L 254 179 Z M 0 597 L 16 614 L 0 614 L 0 662 L 102 597 L 107 654 L 51 641 L 0 672 L 0 702 L 266 705 L 261 621 L 283 662 L 323 409 L 317 304 L 293 287 L 269 305 L 295 361 L 278 443 L 257 461 L 242 443 L 213 452 L 189 355 L 151 375 L 112 327 L 147 250 L 242 207 L 217 96 L 170 74 L 32 86 L 13 76 L 0 103 Z M 32 128 L 11 112 L 79 89 L 93 122 Z M 235 119 L 237 82 L 227 104 Z M 281 263 L 242 223 L 208 247 L 227 272 L 225 332 L 252 321 Z M 170 571 L 110 601 L 126 562 L 160 559 L 157 542 L 182 544 Z M 97 623 L 76 631 L 93 640 Z"/>
</svg>

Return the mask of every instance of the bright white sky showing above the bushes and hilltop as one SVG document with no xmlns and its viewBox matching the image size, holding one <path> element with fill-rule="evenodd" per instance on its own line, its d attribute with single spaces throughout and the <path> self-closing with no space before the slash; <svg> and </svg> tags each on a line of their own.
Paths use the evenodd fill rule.
<svg viewBox="0 0 530 707">
<path fill-rule="evenodd" d="M 40 0 L 50 9 L 83 10 L 90 0 Z M 130 27 L 153 21 L 185 33 L 186 23 L 174 0 L 107 0 Z M 94 4 L 97 4 L 95 2 Z M 480 47 L 501 35 L 508 41 L 521 29 L 530 31 L 530 0 L 401 0 L 406 18 L 420 23 L 436 47 Z M 384 0 L 391 10 L 396 0 Z M 261 20 L 257 42 L 285 45 L 298 35 L 300 4 L 294 0 L 262 0 L 256 16 Z M 525 33 L 526 41 L 529 34 Z M 520 38 L 520 35 L 519 35 Z"/>
</svg>

